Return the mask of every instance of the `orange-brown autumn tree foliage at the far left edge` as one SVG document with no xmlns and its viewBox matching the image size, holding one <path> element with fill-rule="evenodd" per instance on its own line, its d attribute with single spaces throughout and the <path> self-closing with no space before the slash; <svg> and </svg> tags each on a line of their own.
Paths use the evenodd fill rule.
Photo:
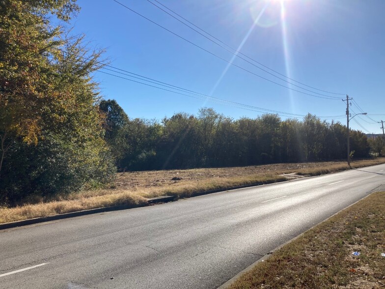
<svg viewBox="0 0 385 289">
<path fill-rule="evenodd" d="M 55 97 L 48 55 L 62 42 L 49 15 L 68 21 L 79 11 L 73 0 L 3 0 L 0 5 L 0 173 L 16 137 L 36 144 L 41 107 Z M 0 175 L 1 177 L 1 175 Z"/>
</svg>

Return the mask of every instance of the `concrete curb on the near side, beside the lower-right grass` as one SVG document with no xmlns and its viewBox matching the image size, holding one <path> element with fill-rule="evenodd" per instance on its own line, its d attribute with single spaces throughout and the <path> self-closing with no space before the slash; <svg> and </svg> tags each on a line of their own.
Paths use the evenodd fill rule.
<svg viewBox="0 0 385 289">
<path fill-rule="evenodd" d="M 286 241 L 285 243 L 279 245 L 278 247 L 274 248 L 272 251 L 270 251 L 269 253 L 267 253 L 266 255 L 262 256 L 260 259 L 256 260 L 254 263 L 252 263 L 251 265 L 249 265 L 247 268 L 243 269 L 241 272 L 239 272 L 237 275 L 235 275 L 233 278 L 231 278 L 230 280 L 228 280 L 226 283 L 223 283 L 220 287 L 218 287 L 217 289 L 227 289 L 230 285 L 232 285 L 235 281 L 238 280 L 238 278 L 240 278 L 243 274 L 251 271 L 258 263 L 260 262 L 263 262 L 265 260 L 267 260 L 275 251 L 277 251 L 278 249 L 282 248 L 283 246 L 293 242 L 294 240 L 298 239 L 299 237 L 301 237 L 305 232 L 317 227 L 318 225 L 328 221 L 330 218 L 334 217 L 335 215 L 339 214 L 340 212 L 342 212 L 343 210 L 346 210 L 347 208 L 355 205 L 356 203 L 358 202 L 361 202 L 362 200 L 366 199 L 367 197 L 369 197 L 372 193 L 375 193 L 375 192 L 382 192 L 385 190 L 385 185 L 380 185 L 376 188 L 374 188 L 373 190 L 367 192 L 366 194 L 368 194 L 367 196 L 363 197 L 362 199 L 358 200 L 357 202 L 354 202 L 350 205 L 348 205 L 346 208 L 343 208 L 342 210 L 336 212 L 335 214 L 331 215 L 329 218 L 327 218 L 326 220 L 322 221 L 321 223 L 317 224 L 317 225 L 314 225 L 313 227 L 307 229 L 306 231 L 302 232 L 301 234 L 299 234 L 298 236 L 295 236 L 294 238 Z"/>
</svg>

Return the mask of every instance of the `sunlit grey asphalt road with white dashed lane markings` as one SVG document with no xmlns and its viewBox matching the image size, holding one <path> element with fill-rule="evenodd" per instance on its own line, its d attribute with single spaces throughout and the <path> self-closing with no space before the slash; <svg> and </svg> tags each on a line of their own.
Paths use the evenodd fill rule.
<svg viewBox="0 0 385 289">
<path fill-rule="evenodd" d="M 385 165 L 2 230 L 0 288 L 214 289 L 382 184 Z"/>
</svg>

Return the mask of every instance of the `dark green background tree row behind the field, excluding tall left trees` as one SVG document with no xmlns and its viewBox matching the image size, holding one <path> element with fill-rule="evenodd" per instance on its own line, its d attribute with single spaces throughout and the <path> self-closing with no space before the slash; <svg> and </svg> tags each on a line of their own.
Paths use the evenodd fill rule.
<svg viewBox="0 0 385 289">
<path fill-rule="evenodd" d="M 346 126 L 311 114 L 302 120 L 274 114 L 234 120 L 202 108 L 197 116 L 177 113 L 158 122 L 129 119 L 115 100 L 103 100 L 101 110 L 119 171 L 340 160 L 347 155 Z M 362 132 L 350 131 L 350 145 L 353 157 L 369 157 Z"/>
</svg>

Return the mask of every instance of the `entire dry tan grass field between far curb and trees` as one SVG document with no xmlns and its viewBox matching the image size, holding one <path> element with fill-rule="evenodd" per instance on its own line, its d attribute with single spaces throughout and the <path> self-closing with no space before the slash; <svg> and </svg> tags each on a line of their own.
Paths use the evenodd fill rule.
<svg viewBox="0 0 385 289">
<path fill-rule="evenodd" d="M 358 168 L 380 163 L 385 163 L 385 158 L 356 161 L 352 166 Z M 317 175 L 347 169 L 349 167 L 344 162 L 315 162 L 120 173 L 110 189 L 57 195 L 50 199 L 33 198 L 17 207 L 0 208 L 0 223 L 119 204 L 145 205 L 147 198 L 165 195 L 187 198 L 237 186 L 274 183 L 286 180 L 284 173 Z"/>
</svg>

